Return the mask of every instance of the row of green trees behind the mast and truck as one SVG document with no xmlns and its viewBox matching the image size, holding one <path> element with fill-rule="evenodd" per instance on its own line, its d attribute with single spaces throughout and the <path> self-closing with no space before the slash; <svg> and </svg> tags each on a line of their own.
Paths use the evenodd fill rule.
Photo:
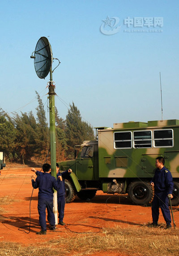
<svg viewBox="0 0 179 256">
<path fill-rule="evenodd" d="M 21 112 L 21 115 L 13 113 L 10 116 L 0 108 L 0 151 L 4 153 L 6 160 L 26 164 L 29 161 L 50 159 L 50 128 L 38 92 L 36 97 L 36 117 L 32 111 Z M 57 161 L 72 159 L 75 145 L 94 139 L 92 126 L 82 121 L 74 102 L 70 104 L 66 119 L 60 118 L 55 108 L 55 126 Z"/>
</svg>

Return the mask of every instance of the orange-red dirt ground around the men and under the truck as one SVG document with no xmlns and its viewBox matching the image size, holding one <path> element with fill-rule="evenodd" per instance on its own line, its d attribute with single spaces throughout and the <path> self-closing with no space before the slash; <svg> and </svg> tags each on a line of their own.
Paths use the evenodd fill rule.
<svg viewBox="0 0 179 256">
<path fill-rule="evenodd" d="M 40 170 L 37 168 L 37 170 Z M 17 242 L 22 245 L 32 245 L 34 240 L 42 243 L 41 236 L 36 234 L 40 230 L 38 226 L 38 189 L 34 190 L 31 207 L 30 198 L 32 194 L 31 168 L 4 168 L 0 175 L 0 197 L 8 196 L 12 201 L 6 205 L 0 205 L 6 212 L 0 213 L 0 241 Z M 17 200 L 14 202 L 14 200 Z M 29 225 L 31 209 L 31 229 L 20 227 Z M 175 223 L 179 223 L 178 207 L 173 207 Z M 126 195 L 110 195 L 98 191 L 94 199 L 89 202 L 76 198 L 73 203 L 65 205 L 64 222 L 66 228 L 75 232 L 98 232 L 98 228 L 131 227 L 135 229 L 152 221 L 151 207 L 132 205 Z M 164 223 L 160 212 L 159 222 Z M 33 226 L 36 225 L 36 226 Z M 178 226 L 178 225 L 177 225 Z M 97 228 L 94 228 L 97 227 Z M 57 226 L 58 232 L 47 230 L 44 242 L 59 235 L 66 237 L 74 235 L 64 226 Z M 113 255 L 119 253 L 94 254 L 93 256 Z M 122 256 L 120 254 L 120 256 Z"/>
</svg>

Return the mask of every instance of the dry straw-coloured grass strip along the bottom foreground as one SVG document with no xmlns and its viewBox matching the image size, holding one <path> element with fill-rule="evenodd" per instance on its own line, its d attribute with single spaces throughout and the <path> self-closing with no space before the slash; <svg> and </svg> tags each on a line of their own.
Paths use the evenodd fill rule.
<svg viewBox="0 0 179 256">
<path fill-rule="evenodd" d="M 39 247 L 22 247 L 0 243 L 0 256 L 84 256 L 93 253 L 119 252 L 128 256 L 178 256 L 179 230 L 163 228 L 103 229 L 98 234 L 72 234 L 68 238 L 41 243 Z"/>
</svg>

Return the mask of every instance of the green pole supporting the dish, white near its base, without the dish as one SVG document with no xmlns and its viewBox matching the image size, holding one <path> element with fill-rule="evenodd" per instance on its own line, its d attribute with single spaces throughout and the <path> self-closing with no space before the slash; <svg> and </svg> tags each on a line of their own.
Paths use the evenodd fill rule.
<svg viewBox="0 0 179 256">
<path fill-rule="evenodd" d="M 50 113 L 50 145 L 51 145 L 51 175 L 56 179 L 56 134 L 55 134 L 55 85 L 52 80 L 52 70 L 50 69 L 49 82 L 49 113 Z M 54 190 L 54 214 L 55 225 L 58 224 L 57 191 Z"/>
</svg>

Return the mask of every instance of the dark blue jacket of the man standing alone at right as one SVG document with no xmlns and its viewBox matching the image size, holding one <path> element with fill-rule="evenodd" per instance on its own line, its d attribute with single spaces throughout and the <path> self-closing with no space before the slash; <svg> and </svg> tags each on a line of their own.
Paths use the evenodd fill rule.
<svg viewBox="0 0 179 256">
<path fill-rule="evenodd" d="M 161 170 L 158 168 L 155 170 L 153 179 L 150 182 L 154 183 L 155 193 L 166 191 L 167 194 L 173 192 L 173 178 L 171 172 L 163 167 Z"/>
</svg>

